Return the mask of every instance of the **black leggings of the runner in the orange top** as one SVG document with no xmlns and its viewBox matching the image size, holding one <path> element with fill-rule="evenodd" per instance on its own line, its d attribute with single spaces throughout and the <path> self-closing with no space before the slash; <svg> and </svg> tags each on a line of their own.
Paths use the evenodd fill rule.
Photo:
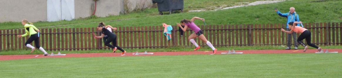
<svg viewBox="0 0 342 78">
<path fill-rule="evenodd" d="M 299 37 L 297 39 L 297 42 L 305 47 L 306 45 L 302 42 L 302 40 L 304 40 L 304 38 L 306 40 L 307 45 L 318 49 L 318 46 L 311 43 L 311 33 L 309 30 L 305 30 L 302 34 L 299 35 Z"/>
</svg>

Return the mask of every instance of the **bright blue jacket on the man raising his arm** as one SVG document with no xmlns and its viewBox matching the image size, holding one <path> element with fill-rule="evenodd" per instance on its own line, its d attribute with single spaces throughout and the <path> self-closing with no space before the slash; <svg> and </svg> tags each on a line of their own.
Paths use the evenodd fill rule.
<svg viewBox="0 0 342 78">
<path fill-rule="evenodd" d="M 280 13 L 280 11 L 277 11 L 277 14 L 281 17 L 287 17 L 287 22 L 286 22 L 286 28 L 289 28 L 288 24 L 290 22 L 294 22 L 294 21 L 300 21 L 299 20 L 299 16 L 298 14 L 296 14 L 296 12 L 293 12 L 292 14 L 290 14 L 290 12 L 288 13 Z M 294 15 L 296 14 L 296 15 Z M 300 26 L 299 24 L 297 24 L 296 26 Z M 303 27 L 303 26 L 302 26 Z"/>
</svg>

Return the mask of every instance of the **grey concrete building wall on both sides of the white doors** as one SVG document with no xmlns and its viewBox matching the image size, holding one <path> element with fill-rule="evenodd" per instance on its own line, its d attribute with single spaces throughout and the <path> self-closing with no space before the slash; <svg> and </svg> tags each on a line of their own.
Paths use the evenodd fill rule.
<svg viewBox="0 0 342 78">
<path fill-rule="evenodd" d="M 145 3 L 144 7 L 152 4 L 152 0 L 129 0 L 131 10 L 138 3 Z M 119 15 L 123 11 L 123 0 L 98 0 L 95 15 L 106 17 Z M 75 19 L 89 17 L 94 9 L 94 0 L 75 0 Z M 22 19 L 30 22 L 47 21 L 47 0 L 0 0 L 0 22 Z"/>
</svg>

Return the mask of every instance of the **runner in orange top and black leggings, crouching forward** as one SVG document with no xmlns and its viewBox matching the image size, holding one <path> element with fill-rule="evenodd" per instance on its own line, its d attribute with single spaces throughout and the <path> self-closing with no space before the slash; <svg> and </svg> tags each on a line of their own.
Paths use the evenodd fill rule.
<svg viewBox="0 0 342 78">
<path fill-rule="evenodd" d="M 309 30 L 300 27 L 300 26 L 295 26 L 296 24 L 301 24 L 302 21 L 300 22 L 290 22 L 289 23 L 289 29 L 291 29 L 291 31 L 285 31 L 284 29 L 281 29 L 282 32 L 286 32 L 286 33 L 292 33 L 292 32 L 296 32 L 296 33 L 301 33 L 297 39 L 297 42 L 299 44 L 301 44 L 302 46 L 304 46 L 304 52 L 308 49 L 308 47 L 302 42 L 302 40 L 306 40 L 306 43 L 308 46 L 314 47 L 318 49 L 318 52 L 320 52 L 322 50 L 321 47 L 316 46 L 315 44 L 311 43 L 311 33 Z"/>
</svg>

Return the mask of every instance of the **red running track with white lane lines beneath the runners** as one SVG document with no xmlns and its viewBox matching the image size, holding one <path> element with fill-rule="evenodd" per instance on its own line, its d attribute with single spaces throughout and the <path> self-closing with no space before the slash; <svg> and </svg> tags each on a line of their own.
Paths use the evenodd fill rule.
<svg viewBox="0 0 342 78">
<path fill-rule="evenodd" d="M 325 50 L 324 50 L 325 51 Z M 329 52 L 338 51 L 342 52 L 342 49 L 329 49 Z M 216 54 L 221 52 L 228 52 L 226 50 L 217 51 Z M 236 50 L 236 52 L 244 52 L 243 54 L 254 53 L 315 53 L 317 49 L 308 49 L 306 52 L 303 50 Z M 152 52 L 152 54 L 133 55 L 134 52 L 126 53 L 124 56 L 170 56 L 170 55 L 194 55 L 194 54 L 212 54 L 212 51 L 177 51 L 177 52 Z M 143 52 L 140 52 L 143 53 Z M 151 53 L 151 52 L 148 52 Z M 37 57 L 36 57 L 37 56 Z M 4 60 L 17 60 L 17 59 L 32 59 L 32 58 L 66 58 L 66 57 L 124 57 L 120 53 L 70 53 L 66 56 L 43 56 L 43 54 L 31 54 L 31 55 L 4 55 L 0 56 L 0 61 Z"/>
</svg>

